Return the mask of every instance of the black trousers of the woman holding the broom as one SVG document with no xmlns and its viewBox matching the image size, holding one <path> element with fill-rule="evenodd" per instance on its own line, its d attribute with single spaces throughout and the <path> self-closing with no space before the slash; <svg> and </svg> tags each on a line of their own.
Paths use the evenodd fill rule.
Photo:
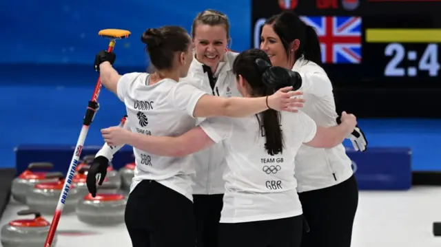
<svg viewBox="0 0 441 247">
<path fill-rule="evenodd" d="M 143 180 L 130 193 L 125 226 L 134 247 L 196 244 L 192 201 L 153 180 Z"/>
</svg>

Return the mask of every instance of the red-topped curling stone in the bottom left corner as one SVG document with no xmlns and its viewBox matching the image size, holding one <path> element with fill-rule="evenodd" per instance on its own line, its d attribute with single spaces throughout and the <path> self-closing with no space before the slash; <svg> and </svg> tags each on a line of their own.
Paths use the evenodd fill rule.
<svg viewBox="0 0 441 247">
<path fill-rule="evenodd" d="M 37 211 L 19 211 L 17 215 L 35 215 L 34 219 L 17 219 L 1 228 L 1 245 L 3 247 L 41 247 L 48 236 L 50 222 L 41 217 Z M 57 244 L 57 233 L 52 246 Z"/>
</svg>

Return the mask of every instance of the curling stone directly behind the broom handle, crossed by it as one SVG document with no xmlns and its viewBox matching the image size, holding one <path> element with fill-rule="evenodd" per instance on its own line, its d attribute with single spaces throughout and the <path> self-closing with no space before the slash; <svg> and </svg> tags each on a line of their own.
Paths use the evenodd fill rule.
<svg viewBox="0 0 441 247">
<path fill-rule="evenodd" d="M 47 174 L 46 178 L 57 178 L 57 182 L 44 182 L 41 184 L 35 184 L 34 189 L 26 197 L 28 206 L 43 214 L 53 215 L 55 208 L 57 207 L 61 193 L 64 195 L 66 191 L 63 191 L 64 176 L 62 173 Z M 76 202 L 80 199 L 78 189 L 74 184 L 70 184 L 67 197 L 64 197 L 63 213 L 72 213 L 75 211 Z"/>
</svg>

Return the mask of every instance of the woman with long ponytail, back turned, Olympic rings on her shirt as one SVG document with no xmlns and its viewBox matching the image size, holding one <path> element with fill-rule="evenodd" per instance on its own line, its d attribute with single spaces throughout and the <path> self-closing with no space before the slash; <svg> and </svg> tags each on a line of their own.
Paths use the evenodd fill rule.
<svg viewBox="0 0 441 247">
<path fill-rule="evenodd" d="M 297 73 L 271 67 L 267 54 L 256 49 L 240 53 L 233 72 L 245 98 L 271 95 L 299 80 Z M 345 112 L 340 125 L 324 128 L 301 111 L 292 114 L 267 109 L 247 118 L 208 118 L 174 137 L 145 136 L 121 127 L 101 133 L 108 144 L 129 144 L 167 157 L 183 157 L 221 142 L 227 169 L 219 247 L 297 247 L 303 227 L 294 178 L 298 148 L 302 144 L 334 147 L 355 126 L 355 116 Z"/>
</svg>

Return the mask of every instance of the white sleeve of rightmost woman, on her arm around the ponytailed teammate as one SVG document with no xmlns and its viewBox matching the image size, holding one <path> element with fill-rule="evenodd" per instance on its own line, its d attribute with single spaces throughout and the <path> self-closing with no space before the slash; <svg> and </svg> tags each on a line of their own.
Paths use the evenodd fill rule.
<svg viewBox="0 0 441 247">
<path fill-rule="evenodd" d="M 328 76 L 318 72 L 299 73 L 302 77 L 300 91 L 318 97 L 332 94 L 332 83 Z"/>
</svg>

